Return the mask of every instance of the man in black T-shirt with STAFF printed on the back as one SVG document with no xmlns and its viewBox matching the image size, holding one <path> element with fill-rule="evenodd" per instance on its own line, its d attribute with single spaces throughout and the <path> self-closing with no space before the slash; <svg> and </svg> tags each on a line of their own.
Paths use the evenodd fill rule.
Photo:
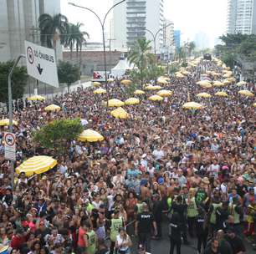
<svg viewBox="0 0 256 254">
<path fill-rule="evenodd" d="M 154 227 L 155 236 L 157 235 L 156 221 L 153 214 L 149 211 L 146 203 L 143 203 L 142 212 L 137 215 L 135 233 L 139 236 L 139 246 L 145 246 L 147 252 L 151 252 L 151 229 Z"/>
</svg>

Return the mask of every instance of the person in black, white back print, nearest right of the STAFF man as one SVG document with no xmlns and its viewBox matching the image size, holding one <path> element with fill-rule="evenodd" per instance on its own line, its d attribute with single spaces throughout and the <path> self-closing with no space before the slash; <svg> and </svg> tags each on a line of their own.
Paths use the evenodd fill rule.
<svg viewBox="0 0 256 254">
<path fill-rule="evenodd" d="M 170 254 L 173 254 L 175 246 L 177 247 L 177 254 L 181 254 L 182 246 L 182 231 L 180 224 L 180 216 L 177 212 L 174 212 L 169 225 L 170 236 Z"/>
</svg>

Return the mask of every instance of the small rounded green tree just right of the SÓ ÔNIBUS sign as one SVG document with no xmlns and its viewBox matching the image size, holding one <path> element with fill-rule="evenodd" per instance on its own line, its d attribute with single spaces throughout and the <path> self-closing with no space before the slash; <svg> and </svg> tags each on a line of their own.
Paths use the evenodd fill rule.
<svg viewBox="0 0 256 254">
<path fill-rule="evenodd" d="M 76 64 L 59 61 L 58 66 L 59 83 L 65 83 L 69 87 L 72 83 L 80 79 L 80 70 Z"/>
</svg>

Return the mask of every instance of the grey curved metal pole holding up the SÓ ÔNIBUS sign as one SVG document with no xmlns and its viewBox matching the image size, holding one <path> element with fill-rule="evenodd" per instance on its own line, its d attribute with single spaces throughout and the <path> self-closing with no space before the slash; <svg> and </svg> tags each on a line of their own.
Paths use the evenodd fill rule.
<svg viewBox="0 0 256 254">
<path fill-rule="evenodd" d="M 12 94 L 12 75 L 15 67 L 17 66 L 19 60 L 25 58 L 23 54 L 20 54 L 13 64 L 12 69 L 8 74 L 8 107 L 9 107 L 9 131 L 13 133 L 13 94 Z M 14 189 L 14 162 L 11 160 L 11 184 L 12 189 Z"/>
</svg>

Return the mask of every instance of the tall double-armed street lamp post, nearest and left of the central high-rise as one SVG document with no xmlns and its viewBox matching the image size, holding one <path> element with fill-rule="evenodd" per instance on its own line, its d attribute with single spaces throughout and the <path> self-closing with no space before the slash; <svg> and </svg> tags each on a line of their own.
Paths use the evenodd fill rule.
<svg viewBox="0 0 256 254">
<path fill-rule="evenodd" d="M 97 13 L 95 13 L 94 10 L 84 7 L 84 6 L 80 6 L 77 5 L 75 3 L 69 3 L 70 5 L 73 5 L 74 7 L 77 8 L 82 8 L 85 9 L 87 11 L 89 11 L 90 13 L 94 13 L 96 18 L 98 18 L 99 22 L 100 22 L 100 26 L 101 26 L 101 31 L 102 31 L 102 40 L 103 40 L 103 51 L 104 51 L 104 69 L 105 69 L 105 89 L 106 89 L 106 94 L 107 94 L 107 107 L 109 106 L 109 86 L 108 86 L 108 80 L 107 80 L 107 72 L 106 72 L 106 57 L 105 57 L 105 19 L 107 18 L 108 14 L 110 13 L 110 11 L 115 8 L 117 5 L 119 5 L 120 3 L 124 3 L 125 0 L 120 1 L 119 3 L 115 3 L 108 11 L 107 13 L 105 13 L 105 17 L 103 20 L 100 19 L 99 15 Z"/>
</svg>

